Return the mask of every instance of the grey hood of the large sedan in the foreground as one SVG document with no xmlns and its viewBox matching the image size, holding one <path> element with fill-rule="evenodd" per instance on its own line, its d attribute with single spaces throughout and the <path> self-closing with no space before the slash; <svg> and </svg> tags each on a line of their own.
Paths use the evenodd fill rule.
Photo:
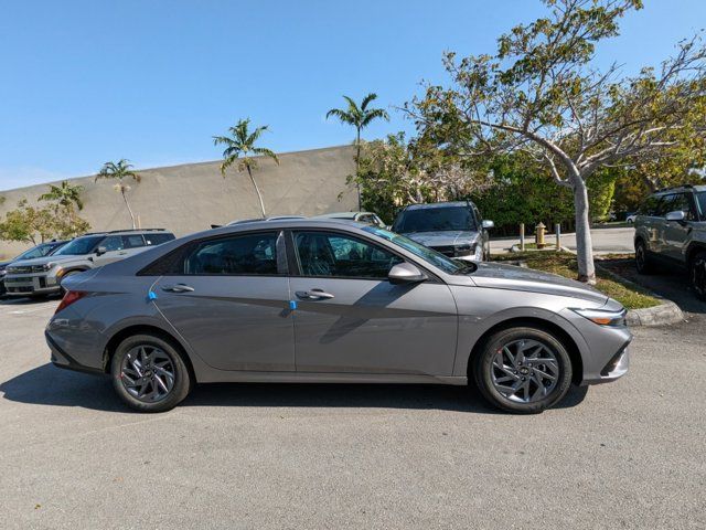
<svg viewBox="0 0 706 530">
<path fill-rule="evenodd" d="M 608 301 L 608 297 L 605 294 L 590 285 L 557 276 L 556 274 L 514 265 L 478 263 L 478 268 L 470 274 L 470 277 L 479 287 L 569 296 L 600 305 L 605 305 Z"/>
</svg>

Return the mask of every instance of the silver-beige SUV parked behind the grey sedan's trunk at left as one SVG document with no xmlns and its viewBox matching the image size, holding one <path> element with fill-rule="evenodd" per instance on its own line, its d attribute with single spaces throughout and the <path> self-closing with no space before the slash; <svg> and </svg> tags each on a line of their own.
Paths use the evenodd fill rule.
<svg viewBox="0 0 706 530">
<path fill-rule="evenodd" d="M 45 296 L 61 292 L 74 274 L 124 259 L 150 246 L 172 241 L 162 229 L 118 230 L 76 237 L 52 255 L 22 259 L 8 266 L 4 278 L 10 296 Z"/>
</svg>

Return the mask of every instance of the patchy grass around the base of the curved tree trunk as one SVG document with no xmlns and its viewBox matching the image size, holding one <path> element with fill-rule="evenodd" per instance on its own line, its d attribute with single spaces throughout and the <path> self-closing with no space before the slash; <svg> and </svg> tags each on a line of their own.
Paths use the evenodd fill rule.
<svg viewBox="0 0 706 530">
<path fill-rule="evenodd" d="M 492 259 L 494 262 L 524 262 L 530 268 L 558 274 L 570 279 L 576 279 L 578 275 L 576 255 L 568 252 L 515 252 L 496 255 Z M 662 304 L 645 289 L 623 284 L 603 271 L 596 271 L 596 288 L 621 303 L 627 309 L 642 309 Z"/>
</svg>

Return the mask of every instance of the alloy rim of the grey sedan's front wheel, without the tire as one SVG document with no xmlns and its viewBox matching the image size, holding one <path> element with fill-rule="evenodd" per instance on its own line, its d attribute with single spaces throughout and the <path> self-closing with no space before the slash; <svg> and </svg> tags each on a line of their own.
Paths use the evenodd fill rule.
<svg viewBox="0 0 706 530">
<path fill-rule="evenodd" d="M 521 339 L 501 347 L 493 358 L 493 386 L 506 400 L 535 403 L 554 391 L 559 362 L 553 349 L 535 339 Z"/>
</svg>

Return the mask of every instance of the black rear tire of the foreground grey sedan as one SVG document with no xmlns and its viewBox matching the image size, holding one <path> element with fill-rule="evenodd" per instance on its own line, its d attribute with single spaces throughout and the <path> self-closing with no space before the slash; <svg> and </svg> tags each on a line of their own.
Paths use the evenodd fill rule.
<svg viewBox="0 0 706 530">
<path fill-rule="evenodd" d="M 163 359 L 169 359 L 169 364 L 167 364 L 167 367 L 172 373 L 172 384 L 169 386 L 169 392 L 165 392 L 164 395 L 159 399 L 151 400 L 148 395 L 140 399 L 133 394 L 137 390 L 141 390 L 142 386 L 145 386 L 146 390 L 157 386 L 153 379 L 151 382 L 145 383 L 139 389 L 132 386 L 132 390 L 128 390 L 130 381 L 128 370 L 131 373 L 133 373 L 135 370 L 125 365 L 130 362 L 129 358 L 126 360 L 126 357 L 135 354 L 133 352 L 136 349 L 139 350 L 140 348 L 143 348 L 147 352 L 159 351 L 163 353 Z M 162 358 L 161 354 L 160 358 Z M 148 367 L 148 370 L 150 373 L 145 378 L 140 378 L 140 380 L 148 380 L 149 375 L 153 375 L 150 367 Z M 147 372 L 143 371 L 143 373 Z M 157 374 L 157 369 L 154 370 L 154 374 Z M 120 342 L 110 361 L 110 377 L 113 379 L 113 386 L 118 396 L 126 405 L 138 412 L 170 411 L 181 403 L 186 395 L 189 395 L 192 386 L 192 375 L 180 351 L 163 338 L 148 333 L 133 335 Z M 169 378 L 162 375 L 162 379 L 169 384 Z"/>
</svg>

